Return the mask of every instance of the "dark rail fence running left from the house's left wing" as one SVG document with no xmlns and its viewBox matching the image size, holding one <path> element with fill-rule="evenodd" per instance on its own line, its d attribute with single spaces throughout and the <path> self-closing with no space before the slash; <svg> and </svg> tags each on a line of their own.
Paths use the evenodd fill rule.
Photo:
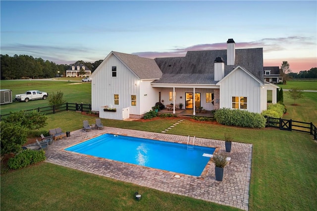
<svg viewBox="0 0 317 211">
<path fill-rule="evenodd" d="M 51 114 L 51 113 L 56 113 L 60 112 L 63 110 L 75 110 L 75 111 L 91 111 L 91 104 L 72 104 L 72 103 L 65 103 L 65 104 L 59 104 L 59 105 L 54 105 L 54 106 L 46 106 L 46 107 L 38 107 L 38 108 L 33 108 L 29 110 L 24 110 L 25 112 L 33 111 L 36 110 L 41 113 L 45 114 Z M 1 114 L 0 115 L 0 120 L 4 117 L 10 115 L 8 114 Z"/>
</svg>

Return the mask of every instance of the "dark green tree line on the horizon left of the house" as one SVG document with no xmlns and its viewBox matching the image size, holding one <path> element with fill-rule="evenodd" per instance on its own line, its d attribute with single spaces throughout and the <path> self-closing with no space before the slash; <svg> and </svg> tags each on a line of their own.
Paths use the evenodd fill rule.
<svg viewBox="0 0 317 211">
<path fill-rule="evenodd" d="M 34 58 L 29 55 L 9 56 L 1 54 L 0 78 L 10 79 L 29 79 L 29 78 L 53 78 L 57 75 L 66 75 L 66 70 L 71 65 L 83 64 L 88 67 L 92 72 L 101 64 L 103 60 L 91 62 L 84 62 L 82 60 L 76 61 L 73 64 L 56 64 L 53 61 L 43 60 L 42 58 Z"/>
</svg>

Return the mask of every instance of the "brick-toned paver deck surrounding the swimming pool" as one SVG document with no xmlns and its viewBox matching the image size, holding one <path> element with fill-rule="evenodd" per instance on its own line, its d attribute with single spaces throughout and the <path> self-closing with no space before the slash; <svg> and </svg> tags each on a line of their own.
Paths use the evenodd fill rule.
<svg viewBox="0 0 317 211">
<path fill-rule="evenodd" d="M 46 150 L 47 162 L 89 172 L 136 185 L 157 189 L 163 192 L 214 202 L 221 205 L 249 209 L 249 187 L 251 178 L 252 145 L 232 143 L 231 153 L 225 152 L 225 142 L 196 138 L 195 145 L 220 147 L 220 152 L 230 157 L 230 163 L 224 168 L 223 181 L 216 181 L 214 164 L 209 162 L 205 176 L 196 177 L 170 171 L 96 158 L 65 151 L 64 149 L 104 133 L 128 135 L 153 140 L 187 143 L 187 136 L 153 133 L 138 130 L 105 127 L 88 131 L 88 137 L 82 130 L 70 132 L 70 137 L 58 139 Z M 180 178 L 175 177 L 179 175 Z"/>
</svg>

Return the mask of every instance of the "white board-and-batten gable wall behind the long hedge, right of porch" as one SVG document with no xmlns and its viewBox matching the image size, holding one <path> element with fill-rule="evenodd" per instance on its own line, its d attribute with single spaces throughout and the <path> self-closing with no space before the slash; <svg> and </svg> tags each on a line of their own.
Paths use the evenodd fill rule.
<svg viewBox="0 0 317 211">
<path fill-rule="evenodd" d="M 247 110 L 261 113 L 265 106 L 261 105 L 261 97 L 264 95 L 259 81 L 238 68 L 228 77 L 219 82 L 220 85 L 220 108 L 232 109 L 232 97 L 247 97 Z M 263 89 L 263 90 L 261 90 Z M 266 93 L 265 93 L 266 96 Z M 266 98 L 266 97 L 265 97 Z"/>
</svg>

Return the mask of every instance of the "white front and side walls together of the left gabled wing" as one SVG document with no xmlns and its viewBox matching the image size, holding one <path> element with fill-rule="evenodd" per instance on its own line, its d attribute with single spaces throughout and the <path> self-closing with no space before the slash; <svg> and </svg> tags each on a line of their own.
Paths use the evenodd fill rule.
<svg viewBox="0 0 317 211">
<path fill-rule="evenodd" d="M 116 66 L 116 77 L 112 77 Z M 140 80 L 124 63 L 111 54 L 92 75 L 92 110 L 100 111 L 101 118 L 125 119 L 148 112 L 155 101 L 153 80 Z M 119 95 L 119 105 L 114 105 L 114 95 Z M 137 106 L 131 106 L 131 95 L 136 95 Z M 104 111 L 104 106 L 116 108 L 116 112 Z M 129 117 L 128 117 L 129 118 Z"/>
</svg>

